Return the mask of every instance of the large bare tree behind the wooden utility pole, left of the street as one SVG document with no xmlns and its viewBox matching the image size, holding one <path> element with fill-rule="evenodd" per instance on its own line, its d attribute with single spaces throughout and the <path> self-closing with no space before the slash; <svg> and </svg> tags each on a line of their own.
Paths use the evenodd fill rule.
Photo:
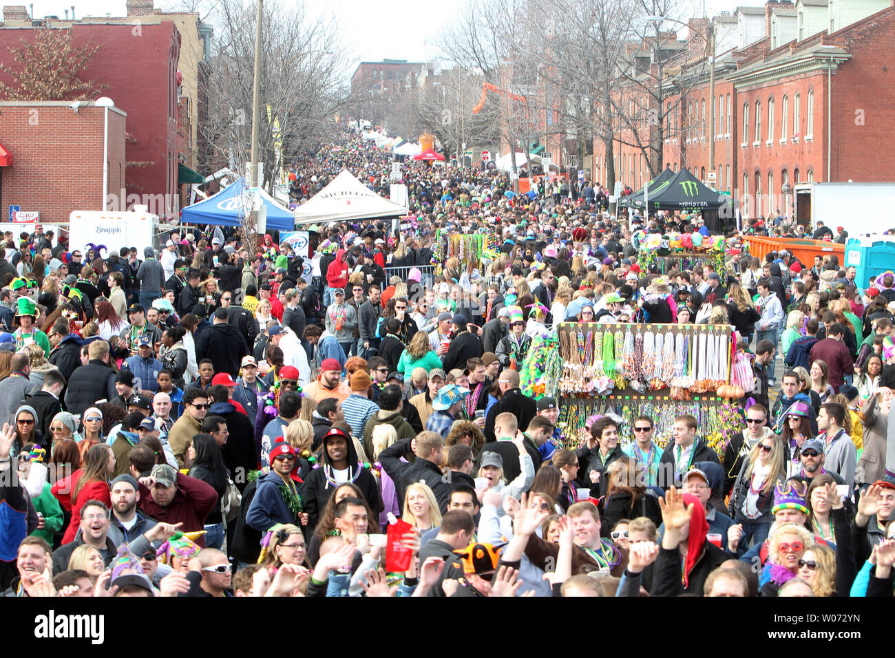
<svg viewBox="0 0 895 658">
<path fill-rule="evenodd" d="M 204 126 L 217 164 L 240 170 L 249 159 L 255 5 L 218 0 Z M 309 18 L 304 2 L 264 4 L 261 29 L 260 161 L 273 192 L 281 166 L 321 134 L 348 98 L 349 55 L 332 19 Z"/>
</svg>

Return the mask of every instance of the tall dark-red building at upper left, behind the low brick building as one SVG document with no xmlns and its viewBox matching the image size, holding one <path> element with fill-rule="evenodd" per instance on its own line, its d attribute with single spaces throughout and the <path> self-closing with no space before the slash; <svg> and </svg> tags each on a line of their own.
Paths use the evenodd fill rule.
<svg viewBox="0 0 895 658">
<path fill-rule="evenodd" d="M 156 24 L 84 23 L 78 21 L 33 21 L 34 27 L 10 27 L 24 21 L 4 8 L 0 29 L 0 63 L 13 69 L 10 47 L 31 42 L 35 30 L 70 29 L 72 45 L 100 45 L 82 77 L 108 85 L 98 96 L 107 96 L 128 117 L 125 189 L 128 197 L 148 205 L 157 214 L 170 213 L 177 192 L 177 62 L 181 37 L 173 21 Z M 31 22 L 31 21 L 29 21 Z M 8 75 L 0 80 L 10 83 Z M 4 139 L 0 132 L 0 143 Z M 127 202 L 128 206 L 133 203 Z"/>
</svg>

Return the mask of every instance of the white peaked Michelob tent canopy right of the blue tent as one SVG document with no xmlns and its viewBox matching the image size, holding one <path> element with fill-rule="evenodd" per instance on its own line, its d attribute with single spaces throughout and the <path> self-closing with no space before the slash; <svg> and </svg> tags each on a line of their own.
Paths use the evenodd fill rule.
<svg viewBox="0 0 895 658">
<path fill-rule="evenodd" d="M 380 197 L 345 169 L 294 211 L 296 226 L 406 214 L 404 206 Z"/>
</svg>

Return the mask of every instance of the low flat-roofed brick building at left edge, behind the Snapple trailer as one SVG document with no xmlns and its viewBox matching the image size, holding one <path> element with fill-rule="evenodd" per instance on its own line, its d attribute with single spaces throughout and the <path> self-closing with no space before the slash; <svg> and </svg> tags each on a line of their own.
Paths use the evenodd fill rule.
<svg viewBox="0 0 895 658">
<path fill-rule="evenodd" d="M 102 209 L 105 107 L 90 101 L 75 112 L 70 101 L 0 102 L 0 145 L 10 164 L 2 167 L 0 211 L 40 213 L 42 222 L 67 222 L 72 210 Z M 108 108 L 109 193 L 124 187 L 125 123 Z"/>
</svg>

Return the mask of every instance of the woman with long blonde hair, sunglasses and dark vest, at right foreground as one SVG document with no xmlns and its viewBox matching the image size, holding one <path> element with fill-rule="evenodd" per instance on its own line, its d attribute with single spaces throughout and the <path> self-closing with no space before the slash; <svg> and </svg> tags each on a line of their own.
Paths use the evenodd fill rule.
<svg viewBox="0 0 895 658">
<path fill-rule="evenodd" d="M 743 461 L 730 494 L 730 514 L 743 527 L 743 545 L 750 537 L 756 544 L 767 538 L 775 487 L 786 480 L 786 467 L 783 442 L 773 433 L 759 439 Z"/>
</svg>

